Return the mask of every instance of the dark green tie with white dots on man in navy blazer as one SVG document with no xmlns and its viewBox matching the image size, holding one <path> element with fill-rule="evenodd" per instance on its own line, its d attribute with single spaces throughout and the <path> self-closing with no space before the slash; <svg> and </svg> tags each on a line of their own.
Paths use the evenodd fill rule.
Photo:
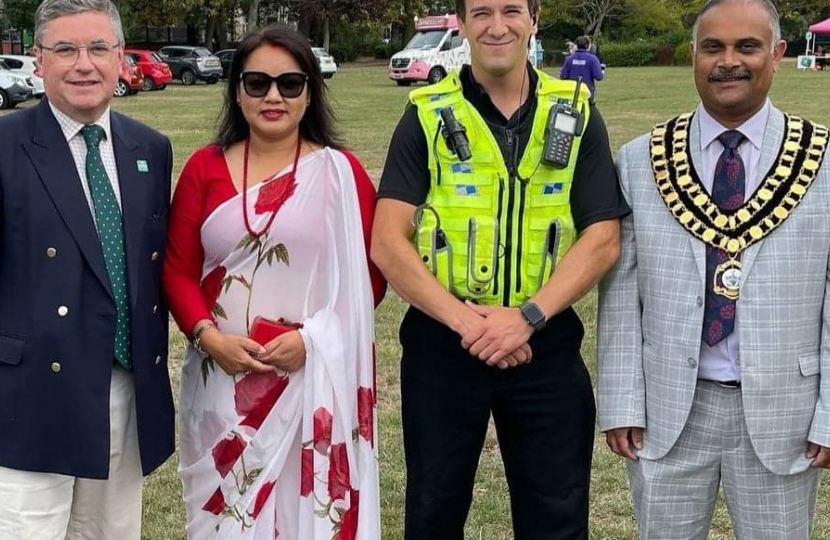
<svg viewBox="0 0 830 540">
<path fill-rule="evenodd" d="M 89 125 L 81 129 L 86 142 L 86 180 L 92 192 L 95 220 L 98 222 L 98 237 L 104 251 L 104 262 L 110 276 L 112 293 L 118 312 L 115 327 L 115 359 L 127 369 L 130 361 L 130 301 L 127 294 L 127 262 L 124 255 L 124 228 L 121 224 L 121 209 L 112 190 L 112 184 L 101 160 L 98 145 L 104 138 L 104 129 Z"/>
</svg>

